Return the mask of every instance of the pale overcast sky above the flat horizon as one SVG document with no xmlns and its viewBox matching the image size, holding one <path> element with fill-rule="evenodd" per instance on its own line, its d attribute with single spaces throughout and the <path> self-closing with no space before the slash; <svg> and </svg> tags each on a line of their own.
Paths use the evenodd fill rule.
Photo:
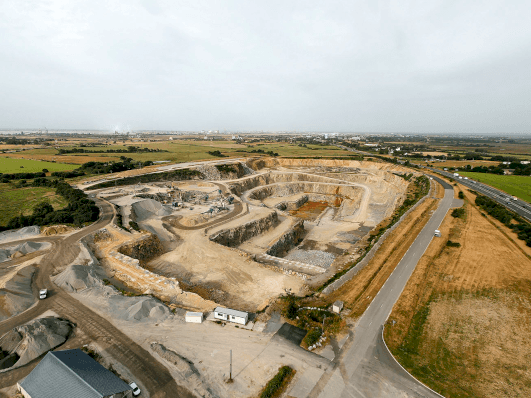
<svg viewBox="0 0 531 398">
<path fill-rule="evenodd" d="M 0 0 L 0 128 L 528 132 L 529 0 Z"/>
</svg>

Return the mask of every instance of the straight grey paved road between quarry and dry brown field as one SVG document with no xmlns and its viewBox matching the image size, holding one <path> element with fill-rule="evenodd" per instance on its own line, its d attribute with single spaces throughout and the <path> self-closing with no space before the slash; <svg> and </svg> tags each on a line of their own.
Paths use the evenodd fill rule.
<svg viewBox="0 0 531 398">
<path fill-rule="evenodd" d="M 394 304 L 454 202 L 452 187 L 437 177 L 434 179 L 445 188 L 439 207 L 358 320 L 353 338 L 342 349 L 336 366 L 321 377 L 310 397 L 440 397 L 401 369 L 381 338 L 382 327 Z"/>
</svg>

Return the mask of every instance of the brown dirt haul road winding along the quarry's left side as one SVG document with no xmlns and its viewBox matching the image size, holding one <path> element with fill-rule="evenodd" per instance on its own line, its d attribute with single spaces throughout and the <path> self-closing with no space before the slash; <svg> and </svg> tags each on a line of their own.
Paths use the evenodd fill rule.
<svg viewBox="0 0 531 398">
<path fill-rule="evenodd" d="M 168 369 L 153 358 L 151 354 L 114 327 L 109 321 L 55 286 L 50 279 L 50 275 L 56 267 L 64 267 L 75 260 L 79 254 L 77 242 L 82 237 L 103 228 L 112 220 L 114 215 L 112 206 L 103 201 L 98 201 L 98 204 L 102 208 L 102 216 L 96 223 L 61 241 L 56 241 L 53 237 L 50 239 L 50 241 L 55 241 L 54 247 L 44 257 L 38 267 L 33 284 L 35 295 L 37 295 L 38 289 L 47 288 L 50 292 L 49 298 L 38 301 L 35 306 L 27 311 L 1 322 L 0 336 L 16 326 L 31 321 L 44 312 L 52 310 L 60 317 L 75 323 L 89 340 L 98 343 L 109 355 L 126 366 L 135 378 L 144 384 L 152 397 L 193 397 L 188 390 L 175 383 Z M 46 241 L 46 239 L 38 239 L 39 241 Z M 20 369 L 0 373 L 0 386 L 7 387 L 15 384 L 29 374 L 33 367 L 34 363 L 30 363 Z"/>
</svg>

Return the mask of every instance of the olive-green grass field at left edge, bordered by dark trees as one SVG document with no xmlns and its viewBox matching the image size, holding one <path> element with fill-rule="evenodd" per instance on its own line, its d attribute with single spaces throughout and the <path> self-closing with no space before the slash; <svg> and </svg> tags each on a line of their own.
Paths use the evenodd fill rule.
<svg viewBox="0 0 531 398">
<path fill-rule="evenodd" d="M 56 210 L 68 204 L 52 188 L 15 188 L 11 184 L 0 184 L 0 225 L 6 225 L 21 213 L 31 214 L 33 207 L 43 200 L 48 200 Z"/>
</svg>

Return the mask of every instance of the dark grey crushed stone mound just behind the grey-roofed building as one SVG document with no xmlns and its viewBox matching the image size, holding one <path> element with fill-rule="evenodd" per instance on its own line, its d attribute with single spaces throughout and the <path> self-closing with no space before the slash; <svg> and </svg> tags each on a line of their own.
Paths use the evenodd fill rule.
<svg viewBox="0 0 531 398">
<path fill-rule="evenodd" d="M 31 322 L 10 330 L 0 338 L 0 347 L 11 362 L 16 360 L 11 366 L 22 366 L 33 361 L 42 354 L 63 344 L 72 333 L 73 325 L 66 319 L 55 318 L 53 316 L 34 319 Z M 6 369 L 10 361 L 4 358 Z"/>
</svg>

